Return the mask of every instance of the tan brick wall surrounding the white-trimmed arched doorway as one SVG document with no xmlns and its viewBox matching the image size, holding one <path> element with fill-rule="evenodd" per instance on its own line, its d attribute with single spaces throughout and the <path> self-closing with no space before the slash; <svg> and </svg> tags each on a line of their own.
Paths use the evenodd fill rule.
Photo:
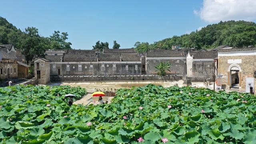
<svg viewBox="0 0 256 144">
<path fill-rule="evenodd" d="M 241 68 L 239 72 L 239 86 L 241 91 L 245 91 L 246 78 L 253 77 L 253 73 L 256 69 L 256 56 L 219 56 L 218 57 L 218 74 L 222 75 L 222 87 L 230 88 L 230 72 L 228 68 L 231 64 L 228 64 L 228 60 L 241 59 L 241 63 L 237 65 Z M 254 83 L 255 87 L 255 83 Z"/>
</svg>

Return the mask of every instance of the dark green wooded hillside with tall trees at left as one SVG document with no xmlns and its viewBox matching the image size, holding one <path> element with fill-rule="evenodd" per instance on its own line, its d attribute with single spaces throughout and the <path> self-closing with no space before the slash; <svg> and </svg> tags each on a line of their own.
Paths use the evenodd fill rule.
<svg viewBox="0 0 256 144">
<path fill-rule="evenodd" d="M 71 49 L 71 43 L 66 42 L 67 36 L 67 32 L 54 31 L 52 36 L 43 37 L 37 28 L 28 27 L 22 31 L 0 17 L 0 44 L 14 44 L 16 48 L 20 48 L 27 61 L 34 56 L 44 56 L 47 49 Z"/>
</svg>

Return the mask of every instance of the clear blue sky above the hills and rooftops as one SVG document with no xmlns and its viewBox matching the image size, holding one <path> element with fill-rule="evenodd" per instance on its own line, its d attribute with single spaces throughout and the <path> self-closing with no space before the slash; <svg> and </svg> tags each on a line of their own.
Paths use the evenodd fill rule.
<svg viewBox="0 0 256 144">
<path fill-rule="evenodd" d="M 131 48 L 228 20 L 207 19 L 207 1 L 215 0 L 1 0 L 0 16 L 21 30 L 34 26 L 41 36 L 68 32 L 75 49 L 92 49 L 98 40 Z"/>
</svg>

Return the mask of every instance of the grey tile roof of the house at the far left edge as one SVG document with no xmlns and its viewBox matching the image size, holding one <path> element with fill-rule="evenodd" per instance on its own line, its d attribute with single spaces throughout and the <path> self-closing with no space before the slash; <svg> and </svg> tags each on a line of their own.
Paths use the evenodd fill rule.
<svg viewBox="0 0 256 144">
<path fill-rule="evenodd" d="M 12 47 L 10 47 L 12 45 L 0 45 L 0 52 L 2 54 L 2 59 L 12 59 L 12 60 L 16 60 L 16 52 L 14 51 L 9 51 Z M 9 51 L 9 53 L 8 53 Z"/>
</svg>

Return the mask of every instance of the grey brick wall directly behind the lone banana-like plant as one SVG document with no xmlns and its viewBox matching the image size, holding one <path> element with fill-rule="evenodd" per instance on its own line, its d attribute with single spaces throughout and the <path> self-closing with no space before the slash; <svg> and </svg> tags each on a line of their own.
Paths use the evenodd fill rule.
<svg viewBox="0 0 256 144">
<path fill-rule="evenodd" d="M 167 75 L 186 75 L 186 59 L 146 59 L 146 74 L 157 74 L 155 66 L 160 64 L 160 62 L 169 62 L 172 64 L 171 68 L 169 68 L 170 71 L 166 70 Z"/>
</svg>

